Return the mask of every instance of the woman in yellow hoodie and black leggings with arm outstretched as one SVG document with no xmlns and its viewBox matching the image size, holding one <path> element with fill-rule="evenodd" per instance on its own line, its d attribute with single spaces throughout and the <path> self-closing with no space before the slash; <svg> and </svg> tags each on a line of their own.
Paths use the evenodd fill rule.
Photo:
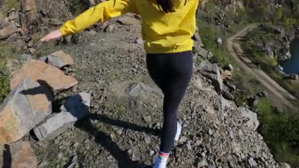
<svg viewBox="0 0 299 168">
<path fill-rule="evenodd" d="M 179 140 L 177 109 L 192 75 L 192 36 L 198 4 L 199 0 L 109 0 L 40 40 L 74 34 L 127 12 L 141 15 L 149 75 L 164 93 L 161 145 L 154 168 L 166 168 L 174 142 Z"/>
</svg>

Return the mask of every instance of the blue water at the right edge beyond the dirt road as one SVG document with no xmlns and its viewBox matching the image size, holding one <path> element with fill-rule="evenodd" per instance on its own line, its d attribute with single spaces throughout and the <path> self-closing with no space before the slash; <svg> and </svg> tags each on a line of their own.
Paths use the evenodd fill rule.
<svg viewBox="0 0 299 168">
<path fill-rule="evenodd" d="M 292 57 L 282 63 L 283 71 L 286 74 L 299 74 L 299 39 L 290 44 Z"/>
</svg>

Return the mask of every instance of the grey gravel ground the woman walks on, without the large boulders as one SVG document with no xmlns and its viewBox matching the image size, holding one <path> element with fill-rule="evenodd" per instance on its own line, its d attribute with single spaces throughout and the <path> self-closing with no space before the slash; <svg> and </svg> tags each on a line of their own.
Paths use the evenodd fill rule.
<svg viewBox="0 0 299 168">
<path fill-rule="evenodd" d="M 140 35 L 139 24 L 117 24 L 112 32 L 81 33 L 86 40 L 77 45 L 56 46 L 73 56 L 70 75 L 78 80 L 77 86 L 57 99 L 87 92 L 92 101 L 89 118 L 55 140 L 38 141 L 31 134 L 39 167 L 150 165 L 159 148 L 162 95 L 147 73 L 145 53 L 137 43 Z M 256 114 L 219 95 L 209 83 L 213 81 L 200 75 L 203 66 L 211 65 L 194 64 L 179 108 L 182 137 L 169 167 L 276 167 L 263 138 L 255 132 Z"/>
</svg>

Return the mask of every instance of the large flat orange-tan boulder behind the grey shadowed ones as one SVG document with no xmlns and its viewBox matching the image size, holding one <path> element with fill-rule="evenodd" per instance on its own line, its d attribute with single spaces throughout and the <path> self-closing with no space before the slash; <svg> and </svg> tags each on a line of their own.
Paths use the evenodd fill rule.
<svg viewBox="0 0 299 168">
<path fill-rule="evenodd" d="M 45 81 L 55 92 L 78 84 L 75 78 L 64 75 L 60 69 L 35 59 L 30 60 L 23 68 L 12 73 L 11 89 L 15 89 L 25 78 L 30 78 L 33 81 Z"/>
</svg>

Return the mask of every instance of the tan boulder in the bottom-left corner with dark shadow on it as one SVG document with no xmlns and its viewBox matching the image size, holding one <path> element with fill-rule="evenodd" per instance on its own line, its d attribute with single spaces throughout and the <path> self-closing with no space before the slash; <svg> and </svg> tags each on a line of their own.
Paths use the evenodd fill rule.
<svg viewBox="0 0 299 168">
<path fill-rule="evenodd" d="M 18 141 L 0 146 L 0 168 L 37 168 L 30 142 Z"/>
</svg>

